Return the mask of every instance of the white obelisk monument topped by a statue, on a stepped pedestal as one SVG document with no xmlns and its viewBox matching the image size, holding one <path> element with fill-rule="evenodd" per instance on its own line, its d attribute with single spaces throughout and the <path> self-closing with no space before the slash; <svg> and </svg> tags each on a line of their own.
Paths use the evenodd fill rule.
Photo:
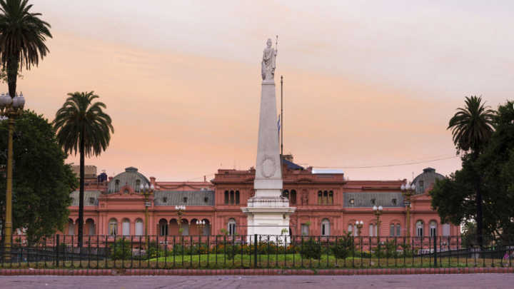
<svg viewBox="0 0 514 289">
<path fill-rule="evenodd" d="M 241 208 L 247 216 L 248 240 L 252 235 L 289 235 L 289 216 L 296 208 L 289 207 L 282 194 L 282 169 L 278 146 L 278 126 L 275 96 L 277 49 L 271 39 L 266 42 L 262 60 L 261 113 L 259 116 L 255 196 L 248 207 Z M 287 240 L 281 237 L 278 240 Z M 276 240 L 271 237 L 271 240 Z M 288 241 L 287 241 L 288 242 Z"/>
</svg>

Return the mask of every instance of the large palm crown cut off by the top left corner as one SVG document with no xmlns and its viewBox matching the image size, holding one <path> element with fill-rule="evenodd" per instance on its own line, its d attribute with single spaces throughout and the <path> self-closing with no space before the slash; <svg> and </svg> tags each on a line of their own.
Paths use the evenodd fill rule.
<svg viewBox="0 0 514 289">
<path fill-rule="evenodd" d="M 31 13 L 28 0 L 0 0 L 0 64 L 7 68 L 11 97 L 16 95 L 18 71 L 37 66 L 49 52 L 46 37 L 51 38 L 50 24 Z"/>
</svg>

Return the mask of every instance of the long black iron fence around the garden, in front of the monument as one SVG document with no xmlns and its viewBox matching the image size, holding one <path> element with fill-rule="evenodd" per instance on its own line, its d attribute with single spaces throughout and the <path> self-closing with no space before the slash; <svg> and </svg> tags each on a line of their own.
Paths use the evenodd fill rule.
<svg viewBox="0 0 514 289">
<path fill-rule="evenodd" d="M 3 242 L 2 242 L 3 244 Z M 54 235 L 14 236 L 0 268 L 439 268 L 512 267 L 514 243 L 483 248 L 460 236 Z"/>
</svg>

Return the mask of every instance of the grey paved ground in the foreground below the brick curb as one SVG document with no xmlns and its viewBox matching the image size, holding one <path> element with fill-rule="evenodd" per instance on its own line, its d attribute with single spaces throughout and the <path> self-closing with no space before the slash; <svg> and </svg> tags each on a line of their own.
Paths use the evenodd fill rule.
<svg viewBox="0 0 514 289">
<path fill-rule="evenodd" d="M 2 276 L 0 288 L 512 288 L 514 274 L 353 276 Z"/>
</svg>

